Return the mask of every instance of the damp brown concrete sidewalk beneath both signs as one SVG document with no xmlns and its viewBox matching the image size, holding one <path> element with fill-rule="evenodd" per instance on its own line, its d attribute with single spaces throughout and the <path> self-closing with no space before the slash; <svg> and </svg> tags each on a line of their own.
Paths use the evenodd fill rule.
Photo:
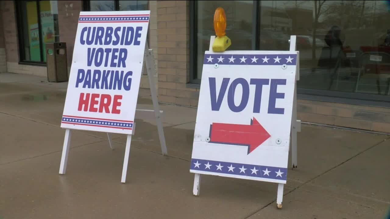
<svg viewBox="0 0 390 219">
<path fill-rule="evenodd" d="M 390 136 L 303 125 L 298 169 L 289 169 L 283 209 L 277 184 L 189 172 L 196 109 L 161 104 L 169 156 L 152 116 L 136 114 L 126 184 L 126 136 L 73 131 L 67 174 L 58 169 L 67 83 L 0 74 L 0 219 L 371 219 L 390 207 Z M 152 109 L 149 90 L 137 108 Z M 386 141 L 387 140 L 387 141 Z M 290 162 L 289 162 L 290 163 Z"/>
</svg>

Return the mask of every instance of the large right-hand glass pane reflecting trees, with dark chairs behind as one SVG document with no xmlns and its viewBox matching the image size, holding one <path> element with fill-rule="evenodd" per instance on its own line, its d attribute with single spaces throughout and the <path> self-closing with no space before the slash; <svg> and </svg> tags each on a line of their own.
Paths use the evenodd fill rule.
<svg viewBox="0 0 390 219">
<path fill-rule="evenodd" d="M 260 1 L 260 49 L 288 50 L 297 35 L 298 88 L 390 95 L 385 1 Z"/>
</svg>

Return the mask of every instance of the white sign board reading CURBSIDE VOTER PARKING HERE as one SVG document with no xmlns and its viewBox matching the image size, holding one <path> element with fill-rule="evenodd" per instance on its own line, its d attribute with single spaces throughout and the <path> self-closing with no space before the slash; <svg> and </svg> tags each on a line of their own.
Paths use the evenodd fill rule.
<svg viewBox="0 0 390 219">
<path fill-rule="evenodd" d="M 62 128 L 131 134 L 149 15 L 80 12 Z"/>
</svg>

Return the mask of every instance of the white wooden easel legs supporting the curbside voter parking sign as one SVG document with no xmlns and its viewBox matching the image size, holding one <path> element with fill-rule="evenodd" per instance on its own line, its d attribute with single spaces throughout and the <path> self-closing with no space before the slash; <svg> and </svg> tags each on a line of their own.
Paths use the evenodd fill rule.
<svg viewBox="0 0 390 219">
<path fill-rule="evenodd" d="M 146 64 L 147 69 L 147 76 L 149 78 L 149 87 L 150 92 L 152 96 L 152 102 L 153 102 L 153 108 L 154 109 L 136 109 L 138 112 L 146 112 L 151 113 L 154 112 L 154 117 L 156 118 L 156 125 L 158 129 L 158 137 L 160 140 L 161 145 L 161 152 L 163 155 L 168 155 L 167 152 L 167 146 L 165 145 L 165 135 L 163 130 L 163 125 L 161 122 L 161 116 L 163 111 L 160 111 L 159 105 L 158 105 L 158 99 L 157 99 L 157 93 L 156 93 L 156 87 L 154 85 L 154 74 L 156 73 L 156 68 L 154 66 L 154 58 L 153 58 L 153 50 L 149 49 L 148 44 L 146 42 L 145 45 L 145 58 L 144 62 Z M 124 161 L 123 161 L 123 169 L 122 169 L 122 178 L 121 182 L 126 182 L 126 173 L 127 173 L 127 167 L 129 162 L 129 154 L 130 154 L 130 144 L 131 144 L 131 136 L 135 134 L 135 122 L 133 123 L 133 132 L 132 134 L 127 135 L 126 140 L 126 149 L 124 153 Z M 108 144 L 110 145 L 110 148 L 113 150 L 114 146 L 111 140 L 110 133 L 107 132 L 107 138 L 108 138 Z M 68 154 L 69 154 L 69 148 L 70 148 L 70 141 L 71 141 L 71 129 L 65 130 L 65 139 L 64 139 L 64 147 L 62 148 L 62 156 L 61 156 L 61 163 L 60 163 L 60 174 L 66 173 L 66 166 L 68 161 Z"/>
</svg>

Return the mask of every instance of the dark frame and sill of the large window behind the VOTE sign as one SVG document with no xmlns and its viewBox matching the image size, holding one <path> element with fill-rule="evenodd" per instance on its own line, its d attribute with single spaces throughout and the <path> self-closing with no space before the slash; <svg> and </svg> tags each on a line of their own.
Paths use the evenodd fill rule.
<svg viewBox="0 0 390 219">
<path fill-rule="evenodd" d="M 260 0 L 254 0 L 254 39 L 255 49 L 260 48 L 260 34 L 261 34 L 261 4 Z M 200 87 L 200 79 L 197 79 L 197 1 L 190 1 L 190 78 L 187 87 Z M 252 46 L 253 47 L 253 46 Z M 308 88 L 298 88 L 298 97 L 305 97 L 305 99 L 311 99 L 314 101 L 320 101 L 319 99 L 333 100 L 340 103 L 340 99 L 346 100 L 349 104 L 389 107 L 389 95 L 356 93 L 356 92 L 342 92 L 333 90 L 315 90 Z M 317 98 L 321 97 L 321 98 Z M 369 104 L 367 104 L 369 103 Z"/>
</svg>

